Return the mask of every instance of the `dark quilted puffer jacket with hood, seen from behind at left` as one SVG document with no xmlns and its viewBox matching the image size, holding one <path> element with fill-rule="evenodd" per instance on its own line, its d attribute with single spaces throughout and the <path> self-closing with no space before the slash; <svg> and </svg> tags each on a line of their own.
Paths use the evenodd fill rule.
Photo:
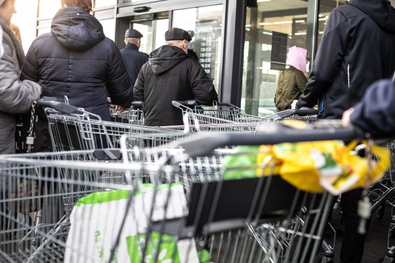
<svg viewBox="0 0 395 263">
<path fill-rule="evenodd" d="M 26 55 L 22 78 L 40 81 L 63 101 L 110 120 L 113 104 L 133 101 L 133 89 L 117 45 L 100 22 L 81 7 L 59 9 L 51 33 L 36 38 Z"/>
</svg>

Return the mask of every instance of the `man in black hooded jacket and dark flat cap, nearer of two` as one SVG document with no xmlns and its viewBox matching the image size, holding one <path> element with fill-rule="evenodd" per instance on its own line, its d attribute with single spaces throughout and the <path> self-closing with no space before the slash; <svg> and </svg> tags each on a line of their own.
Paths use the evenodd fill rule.
<svg viewBox="0 0 395 263">
<path fill-rule="evenodd" d="M 166 44 L 150 54 L 134 85 L 134 98 L 144 102 L 144 121 L 148 126 L 182 125 L 181 111 L 171 102 L 195 100 L 212 105 L 218 100 L 213 80 L 201 65 L 188 56 L 187 31 L 172 28 L 164 34 Z"/>
</svg>

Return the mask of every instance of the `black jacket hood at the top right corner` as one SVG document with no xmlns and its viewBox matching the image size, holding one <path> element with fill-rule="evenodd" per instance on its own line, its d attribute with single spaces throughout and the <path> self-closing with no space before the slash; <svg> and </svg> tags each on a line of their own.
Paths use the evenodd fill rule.
<svg viewBox="0 0 395 263">
<path fill-rule="evenodd" d="M 351 0 L 348 4 L 366 13 L 387 32 L 395 32 L 395 9 L 389 0 Z"/>
</svg>

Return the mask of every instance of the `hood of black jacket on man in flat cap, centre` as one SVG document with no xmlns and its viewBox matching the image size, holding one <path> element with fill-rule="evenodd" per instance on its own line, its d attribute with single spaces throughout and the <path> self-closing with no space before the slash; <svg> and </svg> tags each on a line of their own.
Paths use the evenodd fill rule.
<svg viewBox="0 0 395 263">
<path fill-rule="evenodd" d="M 150 53 L 148 61 L 154 74 L 159 75 L 180 64 L 187 57 L 181 48 L 163 45 Z"/>
</svg>

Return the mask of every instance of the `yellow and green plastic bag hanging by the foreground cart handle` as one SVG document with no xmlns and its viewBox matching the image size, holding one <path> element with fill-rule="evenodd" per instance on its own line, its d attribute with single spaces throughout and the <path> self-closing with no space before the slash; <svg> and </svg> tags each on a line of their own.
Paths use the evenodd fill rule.
<svg viewBox="0 0 395 263">
<path fill-rule="evenodd" d="M 338 141 L 321 141 L 237 147 L 236 151 L 244 151 L 245 154 L 224 157 L 223 178 L 230 180 L 273 174 L 304 191 L 320 193 L 326 190 L 338 195 L 373 184 L 389 167 L 388 150 L 373 146 L 372 153 L 378 161 L 370 162 L 372 169 L 367 176 L 368 159 L 353 154 L 351 150 L 355 146 L 356 143 L 345 146 Z M 271 161 L 263 165 L 268 158 Z M 241 168 L 235 169 L 237 166 Z"/>
</svg>

